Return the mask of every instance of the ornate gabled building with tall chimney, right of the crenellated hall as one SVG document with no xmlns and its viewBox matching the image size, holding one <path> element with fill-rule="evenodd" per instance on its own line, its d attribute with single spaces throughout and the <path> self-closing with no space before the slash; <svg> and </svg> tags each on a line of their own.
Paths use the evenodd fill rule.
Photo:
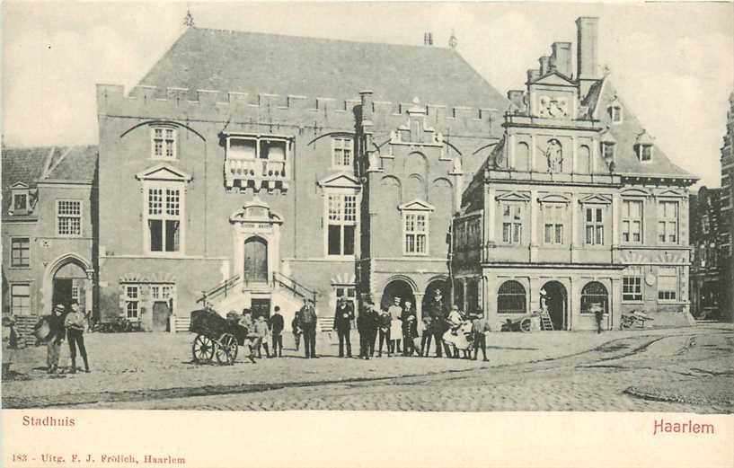
<svg viewBox="0 0 734 468">
<path fill-rule="evenodd" d="M 598 19 L 510 91 L 504 134 L 464 190 L 454 222 L 455 298 L 501 323 L 541 308 L 552 330 L 620 326 L 640 310 L 654 325 L 692 322 L 688 187 L 599 73 Z M 544 301 L 541 301 L 544 296 Z"/>
</svg>

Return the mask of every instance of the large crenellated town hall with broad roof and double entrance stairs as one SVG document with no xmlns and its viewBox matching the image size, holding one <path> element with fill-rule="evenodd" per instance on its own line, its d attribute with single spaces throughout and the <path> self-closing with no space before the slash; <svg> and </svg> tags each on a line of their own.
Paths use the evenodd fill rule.
<svg viewBox="0 0 734 468">
<path fill-rule="evenodd" d="M 420 302 L 508 101 L 452 47 L 190 27 L 128 93 L 99 84 L 105 320 L 288 320 L 305 298 Z M 384 298 L 385 296 L 385 298 Z"/>
</svg>

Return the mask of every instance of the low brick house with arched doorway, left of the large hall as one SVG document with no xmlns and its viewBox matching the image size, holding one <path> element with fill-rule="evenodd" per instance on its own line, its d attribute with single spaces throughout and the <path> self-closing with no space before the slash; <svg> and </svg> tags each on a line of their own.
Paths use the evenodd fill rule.
<svg viewBox="0 0 734 468">
<path fill-rule="evenodd" d="M 93 310 L 97 146 L 3 148 L 3 313 Z"/>
</svg>

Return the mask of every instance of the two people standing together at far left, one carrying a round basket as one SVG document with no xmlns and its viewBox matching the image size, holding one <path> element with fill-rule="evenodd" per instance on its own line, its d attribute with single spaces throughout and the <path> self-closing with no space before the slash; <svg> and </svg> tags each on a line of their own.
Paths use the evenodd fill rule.
<svg viewBox="0 0 734 468">
<path fill-rule="evenodd" d="M 68 342 L 69 354 L 71 355 L 70 372 L 72 374 L 76 373 L 76 349 L 79 349 L 79 354 L 84 360 L 84 372 L 91 372 L 86 347 L 84 347 L 84 326 L 87 323 L 87 316 L 79 309 L 79 303 L 76 299 L 72 299 L 69 309 L 69 311 L 66 311 L 63 304 L 54 305 L 53 312 L 42 319 L 35 327 L 36 330 L 43 326 L 49 328 L 48 333 L 43 337 L 43 340 L 46 341 L 46 363 L 49 367 L 49 374 L 57 372 L 61 343 L 65 339 Z M 37 334 L 37 336 L 39 335 Z"/>
</svg>

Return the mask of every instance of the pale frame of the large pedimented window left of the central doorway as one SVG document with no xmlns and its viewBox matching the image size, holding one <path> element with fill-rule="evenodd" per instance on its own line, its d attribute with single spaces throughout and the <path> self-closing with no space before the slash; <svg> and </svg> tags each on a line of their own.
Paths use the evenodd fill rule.
<svg viewBox="0 0 734 468">
<path fill-rule="evenodd" d="M 160 214 L 151 215 L 151 191 L 161 190 Z M 178 215 L 167 213 L 168 191 L 178 190 Z M 150 221 L 161 221 L 161 250 L 154 251 Z M 178 221 L 178 250 L 166 250 L 166 222 Z M 149 256 L 182 256 L 186 252 L 186 187 L 183 181 L 144 181 L 143 183 L 143 245 Z"/>
</svg>

